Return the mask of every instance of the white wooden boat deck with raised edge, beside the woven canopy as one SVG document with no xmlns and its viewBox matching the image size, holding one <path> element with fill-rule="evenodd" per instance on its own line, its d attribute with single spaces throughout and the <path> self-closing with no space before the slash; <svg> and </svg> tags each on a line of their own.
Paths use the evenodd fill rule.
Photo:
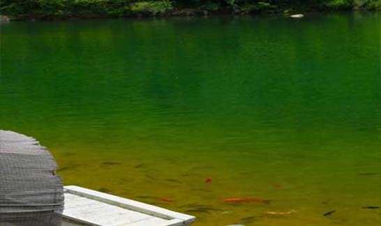
<svg viewBox="0 0 381 226">
<path fill-rule="evenodd" d="M 194 216 L 78 186 L 65 187 L 63 226 L 179 226 Z"/>
</svg>

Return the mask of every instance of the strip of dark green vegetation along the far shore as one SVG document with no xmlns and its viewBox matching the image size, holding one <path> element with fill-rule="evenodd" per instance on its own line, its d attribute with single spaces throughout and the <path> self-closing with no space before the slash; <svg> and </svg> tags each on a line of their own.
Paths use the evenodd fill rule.
<svg viewBox="0 0 381 226">
<path fill-rule="evenodd" d="M 11 20 L 380 10 L 381 0 L 1 0 Z"/>
</svg>

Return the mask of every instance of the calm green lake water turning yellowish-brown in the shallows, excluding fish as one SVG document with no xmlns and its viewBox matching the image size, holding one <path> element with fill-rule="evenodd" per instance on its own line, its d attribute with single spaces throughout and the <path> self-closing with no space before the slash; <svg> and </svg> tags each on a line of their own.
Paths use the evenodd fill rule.
<svg viewBox="0 0 381 226">
<path fill-rule="evenodd" d="M 379 225 L 380 14 L 1 24 L 0 128 L 195 226 Z"/>
</svg>

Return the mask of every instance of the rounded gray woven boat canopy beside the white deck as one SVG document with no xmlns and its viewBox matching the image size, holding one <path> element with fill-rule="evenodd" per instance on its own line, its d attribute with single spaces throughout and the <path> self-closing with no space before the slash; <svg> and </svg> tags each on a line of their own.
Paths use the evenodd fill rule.
<svg viewBox="0 0 381 226">
<path fill-rule="evenodd" d="M 0 225 L 61 225 L 63 185 L 52 155 L 32 137 L 0 130 Z"/>
</svg>

